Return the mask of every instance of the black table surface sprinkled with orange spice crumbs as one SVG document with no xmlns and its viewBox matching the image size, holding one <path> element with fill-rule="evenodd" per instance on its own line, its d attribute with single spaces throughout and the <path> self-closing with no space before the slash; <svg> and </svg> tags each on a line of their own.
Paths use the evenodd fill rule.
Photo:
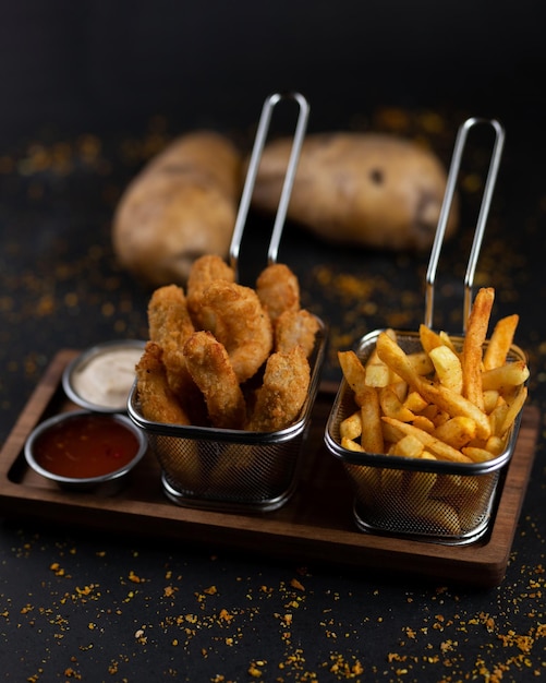
<svg viewBox="0 0 546 683">
<path fill-rule="evenodd" d="M 432 112 L 399 113 L 397 132 L 428 135 L 448 163 L 457 124 L 440 119 L 433 133 L 424 123 Z M 369 125 L 389 131 L 391 121 L 379 109 Z M 139 136 L 37 136 L 0 157 L 2 440 L 60 348 L 146 337 L 150 289 L 118 265 L 110 225 L 120 192 L 170 134 L 168 121 L 154 119 Z M 496 288 L 496 316 L 520 313 L 517 340 L 530 357 L 531 402 L 544 411 L 545 194 L 532 173 L 522 173 L 531 146 L 511 144 L 510 131 L 507 141 L 476 281 Z M 268 225 L 251 216 L 245 262 L 254 268 Z M 437 307 L 451 313 L 444 328 L 459 329 L 461 254 L 471 236 L 462 226 L 445 248 Z M 339 379 L 335 351 L 365 332 L 421 322 L 427 257 L 332 248 L 287 225 L 280 260 L 330 326 L 326 379 Z M 0 527 L 7 680 L 544 676 L 543 456 L 541 434 L 507 574 L 490 589 L 418 580 L 403 567 L 381 576 L 347 571 L 335 559 L 329 566 L 304 556 L 283 562 L 220 543 L 119 538 L 7 515 Z"/>
</svg>

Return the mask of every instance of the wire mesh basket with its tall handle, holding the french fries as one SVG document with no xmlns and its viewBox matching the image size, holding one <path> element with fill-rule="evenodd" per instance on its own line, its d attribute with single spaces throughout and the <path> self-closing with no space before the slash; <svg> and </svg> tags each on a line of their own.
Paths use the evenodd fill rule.
<svg viewBox="0 0 546 683">
<path fill-rule="evenodd" d="M 427 272 L 425 324 L 428 326 L 432 326 L 433 320 L 436 267 L 461 156 L 469 130 L 478 123 L 492 125 L 496 140 L 464 281 L 464 325 L 471 308 L 474 272 L 503 144 L 503 129 L 495 120 L 469 119 L 458 133 Z M 462 335 L 450 335 L 459 350 L 463 345 L 464 331 L 465 327 Z M 357 345 L 355 352 L 364 363 L 374 351 L 380 332 L 369 333 Z M 422 350 L 417 332 L 396 331 L 396 335 L 399 346 L 407 354 Z M 508 360 L 526 359 L 521 349 L 512 346 Z M 447 544 L 475 542 L 487 532 L 494 514 L 495 493 L 513 453 L 521 415 L 513 423 L 500 455 L 488 462 L 466 464 L 347 450 L 340 445 L 340 424 L 355 409 L 353 392 L 343 379 L 326 426 L 325 443 L 343 464 L 353 484 L 353 513 L 359 529 Z"/>
</svg>

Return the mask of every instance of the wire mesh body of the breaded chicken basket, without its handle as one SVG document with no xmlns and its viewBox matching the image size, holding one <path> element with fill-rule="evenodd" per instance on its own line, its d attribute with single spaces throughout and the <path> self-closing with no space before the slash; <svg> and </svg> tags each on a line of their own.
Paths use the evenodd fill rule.
<svg viewBox="0 0 546 683">
<path fill-rule="evenodd" d="M 326 331 L 320 322 L 310 359 L 312 379 L 296 421 L 277 432 L 245 432 L 162 424 L 141 412 L 136 387 L 129 416 L 148 436 L 162 470 L 168 498 L 181 505 L 267 512 L 283 505 L 298 483 L 298 463 L 324 362 Z"/>
</svg>

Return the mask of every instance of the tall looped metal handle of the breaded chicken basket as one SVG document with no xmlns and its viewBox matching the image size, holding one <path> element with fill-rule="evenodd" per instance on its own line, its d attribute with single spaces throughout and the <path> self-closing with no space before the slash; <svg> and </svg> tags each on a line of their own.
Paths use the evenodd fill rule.
<svg viewBox="0 0 546 683">
<path fill-rule="evenodd" d="M 262 160 L 262 153 L 269 132 L 269 124 L 271 121 L 272 110 L 276 105 L 282 99 L 293 99 L 299 105 L 299 117 L 295 125 L 294 137 L 292 142 L 292 148 L 290 152 L 290 158 L 287 166 L 287 173 L 284 176 L 284 182 L 282 184 L 282 191 L 279 199 L 279 205 L 277 207 L 277 214 L 275 216 L 275 224 L 269 242 L 269 250 L 267 252 L 268 264 L 276 263 L 279 252 L 280 238 L 282 236 L 282 229 L 284 227 L 284 220 L 287 217 L 288 205 L 290 203 L 290 195 L 292 193 L 292 187 L 294 184 L 295 171 L 298 163 L 300 160 L 300 153 L 302 149 L 303 140 L 307 129 L 307 120 L 310 115 L 310 105 L 305 97 L 300 93 L 275 93 L 266 98 L 262 108 L 262 115 L 259 117 L 258 129 L 256 137 L 254 140 L 254 146 L 252 149 L 251 160 L 248 169 L 246 171 L 246 179 L 239 204 L 239 212 L 236 215 L 235 227 L 233 229 L 233 236 L 231 238 L 231 244 L 229 249 L 230 265 L 235 273 L 238 272 L 239 251 L 241 247 L 241 240 L 243 238 L 244 228 L 246 225 L 246 217 L 248 215 L 248 208 L 251 205 L 252 194 L 254 191 L 254 184 L 256 182 L 256 176 Z"/>
</svg>

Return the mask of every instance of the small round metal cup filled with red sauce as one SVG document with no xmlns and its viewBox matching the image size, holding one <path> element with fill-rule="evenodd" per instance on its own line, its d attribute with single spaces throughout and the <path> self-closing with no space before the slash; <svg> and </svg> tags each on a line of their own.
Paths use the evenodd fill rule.
<svg viewBox="0 0 546 683">
<path fill-rule="evenodd" d="M 38 424 L 25 443 L 25 458 L 50 481 L 89 490 L 118 482 L 146 450 L 145 435 L 125 416 L 75 410 Z"/>
</svg>

